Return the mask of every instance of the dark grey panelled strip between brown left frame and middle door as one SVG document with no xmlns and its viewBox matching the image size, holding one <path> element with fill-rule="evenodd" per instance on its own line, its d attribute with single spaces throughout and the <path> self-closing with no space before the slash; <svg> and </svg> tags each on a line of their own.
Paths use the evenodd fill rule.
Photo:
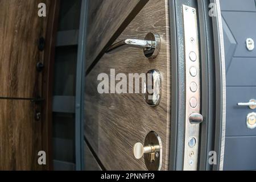
<svg viewBox="0 0 256 182">
<path fill-rule="evenodd" d="M 81 168 L 82 160 L 77 163 L 75 121 L 80 11 L 81 0 L 60 2 L 53 87 L 53 159 L 57 170 Z"/>
</svg>

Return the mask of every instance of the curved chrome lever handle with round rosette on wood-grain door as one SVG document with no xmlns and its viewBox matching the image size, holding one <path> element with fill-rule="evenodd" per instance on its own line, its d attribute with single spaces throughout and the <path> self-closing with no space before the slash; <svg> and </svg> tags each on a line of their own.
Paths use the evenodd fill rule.
<svg viewBox="0 0 256 182">
<path fill-rule="evenodd" d="M 106 53 L 114 53 L 119 51 L 119 49 L 127 48 L 127 47 L 135 47 L 135 48 L 142 48 L 144 51 L 144 55 L 147 58 L 154 59 L 158 56 L 160 51 L 160 36 L 158 34 L 148 33 L 144 40 L 139 39 L 125 39 L 121 40 L 118 43 L 113 44 L 110 46 Z"/>
</svg>

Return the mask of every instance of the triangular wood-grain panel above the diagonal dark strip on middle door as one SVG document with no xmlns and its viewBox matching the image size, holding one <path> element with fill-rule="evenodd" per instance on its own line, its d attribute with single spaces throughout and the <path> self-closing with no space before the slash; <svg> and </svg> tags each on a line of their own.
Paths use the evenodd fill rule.
<svg viewBox="0 0 256 182">
<path fill-rule="evenodd" d="M 89 0 L 86 68 L 89 68 L 139 0 Z"/>
</svg>

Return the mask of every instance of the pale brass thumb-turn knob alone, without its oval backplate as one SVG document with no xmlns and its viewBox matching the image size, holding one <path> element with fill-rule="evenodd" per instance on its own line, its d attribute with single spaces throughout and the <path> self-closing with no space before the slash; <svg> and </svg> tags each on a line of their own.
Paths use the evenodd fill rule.
<svg viewBox="0 0 256 182">
<path fill-rule="evenodd" d="M 160 151 L 160 146 L 143 146 L 142 143 L 135 143 L 133 146 L 133 155 L 136 159 L 141 159 L 144 154 L 154 154 Z"/>
</svg>

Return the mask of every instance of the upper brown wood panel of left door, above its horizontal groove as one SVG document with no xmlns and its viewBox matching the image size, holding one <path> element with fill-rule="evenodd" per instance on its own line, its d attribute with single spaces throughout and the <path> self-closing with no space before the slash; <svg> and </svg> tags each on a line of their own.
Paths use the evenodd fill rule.
<svg viewBox="0 0 256 182">
<path fill-rule="evenodd" d="M 47 17 L 38 4 L 49 0 L 0 0 L 0 96 L 31 98 L 40 94 L 36 63 L 43 62 L 38 39 L 46 36 Z M 48 10 L 48 9 L 47 9 Z"/>
</svg>

